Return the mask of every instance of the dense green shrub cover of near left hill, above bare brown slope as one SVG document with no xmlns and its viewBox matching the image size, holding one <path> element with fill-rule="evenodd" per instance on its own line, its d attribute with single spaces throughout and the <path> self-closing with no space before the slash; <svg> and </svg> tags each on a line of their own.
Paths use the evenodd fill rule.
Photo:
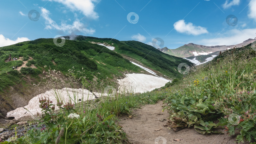
<svg viewBox="0 0 256 144">
<path fill-rule="evenodd" d="M 53 39 L 36 39 L 0 49 L 2 51 L 0 55 L 1 73 L 10 72 L 12 66 L 22 64 L 21 61 L 4 62 L 8 59 L 9 53 L 13 57 L 32 57 L 35 66 L 40 70 L 48 70 L 50 67 L 66 74 L 73 67 L 76 70 L 82 70 L 83 68 L 88 81 L 92 81 L 96 76 L 99 79 L 98 82 L 100 82 L 100 80 L 105 80 L 107 77 L 112 79 L 113 75 L 120 76 L 126 70 L 139 72 L 138 69 L 140 69 L 118 53 L 89 42 L 66 40 L 64 46 L 58 47 L 54 45 Z M 44 68 L 44 66 L 46 67 Z"/>
</svg>

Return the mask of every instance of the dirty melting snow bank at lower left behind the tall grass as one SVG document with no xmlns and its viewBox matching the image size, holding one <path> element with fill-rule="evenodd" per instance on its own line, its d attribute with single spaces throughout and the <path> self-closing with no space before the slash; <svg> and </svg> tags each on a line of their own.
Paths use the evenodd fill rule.
<svg viewBox="0 0 256 144">
<path fill-rule="evenodd" d="M 55 91 L 58 93 L 59 97 L 61 99 L 63 99 L 63 103 L 65 104 L 65 102 L 68 102 L 71 98 L 72 103 L 74 103 L 74 101 L 76 101 L 76 103 L 78 103 L 79 99 L 83 99 L 84 101 L 91 100 L 91 99 L 95 99 L 95 96 L 93 95 L 93 93 L 89 92 L 86 89 L 72 89 L 72 88 L 63 88 L 63 89 L 58 89 L 58 90 L 50 90 L 50 91 L 46 91 L 45 93 L 41 93 L 37 96 L 35 96 L 34 98 L 30 99 L 30 101 L 28 102 L 28 105 L 23 107 L 19 107 L 13 111 L 9 111 L 6 115 L 6 117 L 15 117 L 15 120 L 18 120 L 21 117 L 25 117 L 25 116 L 31 116 L 32 118 L 34 118 L 33 115 L 36 115 L 37 112 L 40 113 L 40 111 L 42 110 L 39 105 L 39 98 L 41 99 L 41 97 L 46 97 L 46 99 L 50 99 L 52 101 L 52 104 L 57 104 L 57 99 L 56 99 L 56 94 Z M 101 97 L 101 95 L 107 95 L 107 94 L 101 94 L 101 93 L 94 93 L 97 97 Z M 69 98 L 70 96 L 70 98 Z M 55 106 L 55 109 L 58 109 L 57 106 Z"/>
</svg>

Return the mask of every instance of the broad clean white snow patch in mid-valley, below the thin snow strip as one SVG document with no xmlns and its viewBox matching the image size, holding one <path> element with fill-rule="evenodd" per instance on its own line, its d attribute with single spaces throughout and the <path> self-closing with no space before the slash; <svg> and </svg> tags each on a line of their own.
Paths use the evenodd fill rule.
<svg viewBox="0 0 256 144">
<path fill-rule="evenodd" d="M 144 93 L 163 87 L 169 80 L 146 74 L 126 74 L 119 82 L 119 92 Z"/>
</svg>

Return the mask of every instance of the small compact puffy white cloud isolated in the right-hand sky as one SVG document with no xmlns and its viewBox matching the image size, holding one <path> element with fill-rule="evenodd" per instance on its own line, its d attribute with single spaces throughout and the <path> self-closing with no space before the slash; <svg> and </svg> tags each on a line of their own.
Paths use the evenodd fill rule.
<svg viewBox="0 0 256 144">
<path fill-rule="evenodd" d="M 192 35 L 200 35 L 208 33 L 205 27 L 194 26 L 191 22 L 185 23 L 185 20 L 180 20 L 174 23 L 174 29 L 179 33 L 186 33 Z"/>
</svg>

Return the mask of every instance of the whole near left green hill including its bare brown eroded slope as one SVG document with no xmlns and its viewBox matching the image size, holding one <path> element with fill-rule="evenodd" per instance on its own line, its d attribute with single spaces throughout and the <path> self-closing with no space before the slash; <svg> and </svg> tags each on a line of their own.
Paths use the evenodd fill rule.
<svg viewBox="0 0 256 144">
<path fill-rule="evenodd" d="M 60 43 L 61 39 L 58 40 Z M 18 60 L 9 62 L 9 54 Z M 13 70 L 13 66 L 18 69 Z M 44 81 L 43 72 L 54 70 L 66 75 L 70 69 L 80 71 L 72 74 L 74 77 L 86 77 L 86 81 L 95 85 L 106 85 L 125 73 L 143 71 L 118 53 L 84 41 L 66 40 L 64 46 L 58 47 L 53 39 L 36 39 L 4 46 L 0 48 L 0 113 L 5 115 L 13 108 L 24 106 L 39 94 L 34 86 Z"/>
</svg>

